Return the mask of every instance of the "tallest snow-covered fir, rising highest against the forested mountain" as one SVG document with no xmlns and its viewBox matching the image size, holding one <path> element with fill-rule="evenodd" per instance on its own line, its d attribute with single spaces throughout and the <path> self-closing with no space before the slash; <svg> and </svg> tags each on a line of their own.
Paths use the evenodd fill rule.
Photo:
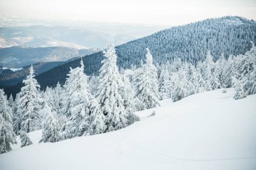
<svg viewBox="0 0 256 170">
<path fill-rule="evenodd" d="M 124 85 L 117 67 L 114 43 L 103 53 L 106 58 L 102 60 L 99 71 L 97 99 L 105 116 L 106 131 L 109 132 L 127 126 L 127 111 L 122 98 Z"/>
</svg>

